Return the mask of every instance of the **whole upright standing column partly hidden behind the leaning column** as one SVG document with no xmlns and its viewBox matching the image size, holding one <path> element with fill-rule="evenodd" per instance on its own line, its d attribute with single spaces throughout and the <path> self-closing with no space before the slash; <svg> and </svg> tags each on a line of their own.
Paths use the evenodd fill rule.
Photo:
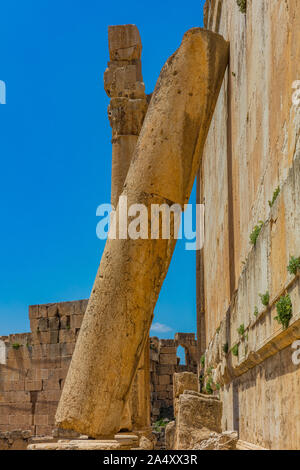
<svg viewBox="0 0 300 470">
<path fill-rule="evenodd" d="M 122 193 L 139 133 L 148 108 L 142 77 L 142 43 L 135 25 L 109 26 L 110 62 L 104 88 L 111 98 L 108 117 L 112 127 L 111 204 Z M 150 426 L 149 342 L 142 353 L 120 428 L 142 430 Z"/>
</svg>

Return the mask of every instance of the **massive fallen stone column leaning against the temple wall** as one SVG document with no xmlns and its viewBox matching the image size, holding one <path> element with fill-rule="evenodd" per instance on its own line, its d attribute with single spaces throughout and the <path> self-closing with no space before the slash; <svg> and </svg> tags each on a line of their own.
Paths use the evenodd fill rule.
<svg viewBox="0 0 300 470">
<path fill-rule="evenodd" d="M 127 174 L 128 206 L 189 200 L 228 62 L 228 43 L 193 28 L 163 67 Z M 116 216 L 119 220 L 121 208 Z M 153 310 L 169 268 L 169 240 L 107 240 L 56 414 L 92 437 L 119 429 Z"/>
</svg>

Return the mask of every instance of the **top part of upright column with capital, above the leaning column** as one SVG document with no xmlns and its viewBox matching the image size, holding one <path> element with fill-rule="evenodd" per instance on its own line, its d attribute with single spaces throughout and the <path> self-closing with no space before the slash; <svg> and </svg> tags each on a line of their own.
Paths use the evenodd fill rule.
<svg viewBox="0 0 300 470">
<path fill-rule="evenodd" d="M 116 208 L 148 101 L 142 77 L 142 43 L 137 27 L 109 26 L 108 45 L 111 62 L 104 73 L 104 89 L 111 98 L 108 106 L 112 127 L 111 203 Z"/>
</svg>

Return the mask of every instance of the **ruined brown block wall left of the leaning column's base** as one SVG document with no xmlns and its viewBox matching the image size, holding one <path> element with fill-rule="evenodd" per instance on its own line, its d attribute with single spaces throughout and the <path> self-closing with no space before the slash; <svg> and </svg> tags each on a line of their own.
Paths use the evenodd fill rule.
<svg viewBox="0 0 300 470">
<path fill-rule="evenodd" d="M 51 435 L 87 301 L 29 308 L 32 333 L 10 335 L 0 365 L 0 431 Z"/>
</svg>

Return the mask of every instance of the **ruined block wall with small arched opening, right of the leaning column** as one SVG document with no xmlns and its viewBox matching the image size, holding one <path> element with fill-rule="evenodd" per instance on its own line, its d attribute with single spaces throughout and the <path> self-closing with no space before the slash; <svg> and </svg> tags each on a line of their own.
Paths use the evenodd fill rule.
<svg viewBox="0 0 300 470">
<path fill-rule="evenodd" d="M 177 348 L 185 348 L 185 364 L 180 364 Z M 151 420 L 173 418 L 173 374 L 196 372 L 197 342 L 194 333 L 177 333 L 174 339 L 150 338 Z"/>
</svg>

